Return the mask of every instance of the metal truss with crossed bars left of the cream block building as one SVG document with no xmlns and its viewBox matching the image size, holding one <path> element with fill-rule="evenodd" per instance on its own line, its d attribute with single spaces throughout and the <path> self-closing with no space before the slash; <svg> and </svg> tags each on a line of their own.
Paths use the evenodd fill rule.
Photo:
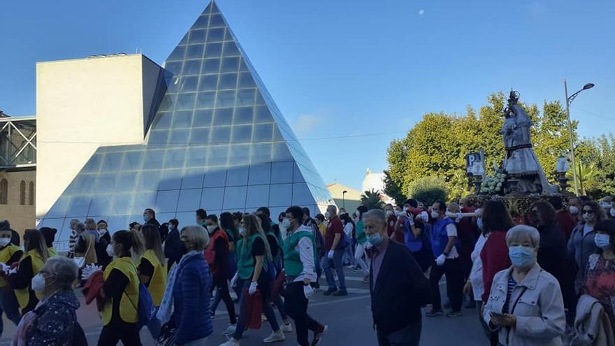
<svg viewBox="0 0 615 346">
<path fill-rule="evenodd" d="M 0 169 L 36 167 L 36 117 L 0 117 Z"/>
</svg>

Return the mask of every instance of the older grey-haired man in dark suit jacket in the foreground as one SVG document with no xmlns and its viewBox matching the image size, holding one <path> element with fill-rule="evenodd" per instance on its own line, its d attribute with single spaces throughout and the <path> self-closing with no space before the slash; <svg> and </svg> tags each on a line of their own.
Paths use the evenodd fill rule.
<svg viewBox="0 0 615 346">
<path fill-rule="evenodd" d="M 421 305 L 429 284 L 410 250 L 389 240 L 382 210 L 363 214 L 373 245 L 370 266 L 372 317 L 380 346 L 415 346 L 421 340 Z"/>
</svg>

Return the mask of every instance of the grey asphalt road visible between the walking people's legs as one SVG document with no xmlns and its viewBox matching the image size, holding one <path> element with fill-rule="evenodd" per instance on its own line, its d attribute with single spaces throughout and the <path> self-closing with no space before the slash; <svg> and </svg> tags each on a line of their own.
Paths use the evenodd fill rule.
<svg viewBox="0 0 615 346">
<path fill-rule="evenodd" d="M 327 324 L 329 329 L 325 334 L 321 346 L 333 345 L 377 345 L 375 332 L 372 330 L 370 312 L 370 298 L 367 284 L 361 282 L 361 275 L 347 271 L 347 286 L 349 295 L 345 297 L 324 296 L 322 292 L 314 294 L 310 302 L 309 312 L 319 322 Z M 321 281 L 323 287 L 324 279 Z M 444 286 L 440 291 L 444 293 Z M 214 333 L 208 339 L 212 346 L 224 343 L 226 338 L 219 333 L 229 323 L 228 315 L 224 310 L 224 304 L 220 303 L 215 319 L 213 320 Z M 277 313 L 277 310 L 276 310 Z M 278 315 L 279 317 L 279 315 Z M 101 330 L 101 322 L 94 305 L 85 305 L 78 310 L 78 318 L 88 338 L 89 345 L 96 345 Z M 15 333 L 15 326 L 4 319 L 5 331 L 0 339 L 0 346 L 9 345 L 8 338 Z M 262 339 L 271 332 L 268 322 L 258 331 L 247 331 L 241 341 L 241 345 L 263 345 Z M 311 338 L 311 333 L 310 333 Z M 141 340 L 144 346 L 154 345 L 149 331 L 143 329 Z M 463 317 L 450 319 L 447 317 L 424 317 L 421 345 L 486 345 L 486 338 L 477 321 L 475 310 L 464 309 Z M 274 345 L 297 345 L 295 333 L 287 333 L 287 340 Z"/>
</svg>

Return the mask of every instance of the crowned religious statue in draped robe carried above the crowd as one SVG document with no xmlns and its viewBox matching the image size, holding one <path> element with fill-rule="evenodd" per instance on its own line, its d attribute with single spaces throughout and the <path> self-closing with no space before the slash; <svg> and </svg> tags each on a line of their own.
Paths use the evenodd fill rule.
<svg viewBox="0 0 615 346">
<path fill-rule="evenodd" d="M 513 194 L 555 194 L 557 189 L 547 182 L 534 152 L 530 138 L 533 122 L 518 101 L 519 92 L 511 91 L 500 131 L 506 147 L 502 168 L 509 176 L 509 189 Z"/>
</svg>

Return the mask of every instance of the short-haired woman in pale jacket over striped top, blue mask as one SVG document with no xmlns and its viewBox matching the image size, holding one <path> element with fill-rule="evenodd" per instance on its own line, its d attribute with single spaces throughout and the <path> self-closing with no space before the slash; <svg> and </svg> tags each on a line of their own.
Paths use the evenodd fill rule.
<svg viewBox="0 0 615 346">
<path fill-rule="evenodd" d="M 500 345 L 562 345 L 566 319 L 558 280 L 537 264 L 540 233 L 514 226 L 506 233 L 512 267 L 493 278 L 483 318 Z"/>
</svg>

